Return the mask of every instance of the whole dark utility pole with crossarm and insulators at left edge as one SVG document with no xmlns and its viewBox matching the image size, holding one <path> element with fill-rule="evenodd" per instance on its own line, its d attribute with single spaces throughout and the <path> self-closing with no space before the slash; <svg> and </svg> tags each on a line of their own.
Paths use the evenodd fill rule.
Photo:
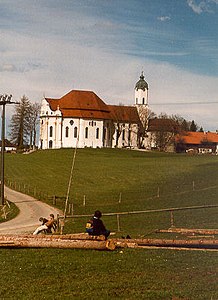
<svg viewBox="0 0 218 300">
<path fill-rule="evenodd" d="M 0 95 L 0 105 L 2 106 L 2 143 L 1 143 L 1 203 L 4 205 L 4 186 L 5 186 L 5 167 L 4 167 L 4 150 L 5 150 L 5 106 L 6 104 L 16 104 L 17 102 L 11 101 L 12 95 Z"/>
</svg>

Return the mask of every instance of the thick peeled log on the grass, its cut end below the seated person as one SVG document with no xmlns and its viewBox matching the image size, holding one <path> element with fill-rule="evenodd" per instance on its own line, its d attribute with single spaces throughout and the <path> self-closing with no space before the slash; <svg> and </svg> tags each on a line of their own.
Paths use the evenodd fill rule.
<svg viewBox="0 0 218 300">
<path fill-rule="evenodd" d="M 0 236 L 0 247 L 114 250 L 113 240 L 76 240 L 38 236 Z"/>
</svg>

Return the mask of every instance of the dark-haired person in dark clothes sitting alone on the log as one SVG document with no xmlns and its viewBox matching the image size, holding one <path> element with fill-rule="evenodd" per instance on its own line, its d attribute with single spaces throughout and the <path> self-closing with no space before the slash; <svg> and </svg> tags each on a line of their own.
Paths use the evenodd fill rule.
<svg viewBox="0 0 218 300">
<path fill-rule="evenodd" d="M 89 235 L 104 235 L 105 239 L 110 235 L 110 230 L 107 230 L 100 219 L 102 216 L 99 210 L 96 210 L 94 216 L 86 223 L 86 232 Z"/>
</svg>

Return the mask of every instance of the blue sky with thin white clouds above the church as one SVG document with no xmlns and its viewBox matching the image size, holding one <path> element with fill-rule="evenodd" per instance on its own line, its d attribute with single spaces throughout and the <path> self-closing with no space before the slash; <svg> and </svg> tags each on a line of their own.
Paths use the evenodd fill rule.
<svg viewBox="0 0 218 300">
<path fill-rule="evenodd" d="M 218 129 L 218 0 L 0 0 L 0 94 L 94 91 Z M 13 105 L 6 108 L 7 124 Z"/>
</svg>

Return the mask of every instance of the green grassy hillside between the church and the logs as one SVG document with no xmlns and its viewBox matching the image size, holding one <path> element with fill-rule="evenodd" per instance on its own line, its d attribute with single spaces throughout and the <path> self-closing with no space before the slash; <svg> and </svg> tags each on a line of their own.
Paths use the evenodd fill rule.
<svg viewBox="0 0 218 300">
<path fill-rule="evenodd" d="M 74 149 L 46 150 L 32 154 L 7 154 L 6 179 L 24 192 L 37 191 L 43 200 L 63 209 Z M 171 207 L 217 204 L 218 157 L 130 151 L 78 149 L 70 203 L 74 214 L 154 210 Z M 85 199 L 85 206 L 84 206 Z M 217 227 L 217 209 L 175 213 L 182 227 Z M 85 219 L 70 231 L 83 231 Z M 108 226 L 117 229 L 115 217 Z M 143 235 L 170 226 L 169 212 L 122 216 L 122 232 Z M 131 224 L 137 223 L 137 226 Z"/>
</svg>

